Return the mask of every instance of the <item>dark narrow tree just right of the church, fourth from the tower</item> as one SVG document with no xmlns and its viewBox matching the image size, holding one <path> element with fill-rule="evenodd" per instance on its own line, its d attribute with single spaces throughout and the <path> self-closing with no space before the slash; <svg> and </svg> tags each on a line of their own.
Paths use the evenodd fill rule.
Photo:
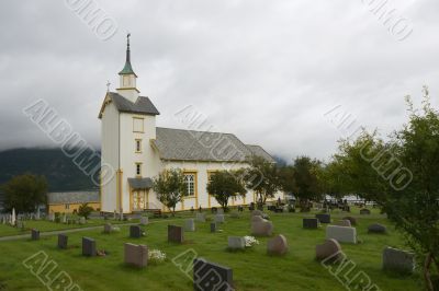
<svg viewBox="0 0 439 291">
<path fill-rule="evenodd" d="M 301 210 L 308 211 L 312 199 L 322 198 L 322 163 L 308 156 L 299 156 L 294 160 L 293 181 L 294 195 L 299 199 Z"/>
</svg>

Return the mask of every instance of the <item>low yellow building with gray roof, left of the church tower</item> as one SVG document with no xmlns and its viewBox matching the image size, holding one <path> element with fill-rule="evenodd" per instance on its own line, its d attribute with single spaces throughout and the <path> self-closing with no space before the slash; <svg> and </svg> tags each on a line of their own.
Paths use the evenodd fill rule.
<svg viewBox="0 0 439 291">
<path fill-rule="evenodd" d="M 47 194 L 47 211 L 75 213 L 82 203 L 88 203 L 94 210 L 101 210 L 99 191 L 64 191 Z"/>
</svg>

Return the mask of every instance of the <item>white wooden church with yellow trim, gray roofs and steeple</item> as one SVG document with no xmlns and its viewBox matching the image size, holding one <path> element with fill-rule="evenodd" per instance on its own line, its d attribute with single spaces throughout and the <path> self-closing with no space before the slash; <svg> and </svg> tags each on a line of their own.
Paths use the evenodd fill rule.
<svg viewBox="0 0 439 291">
<path fill-rule="evenodd" d="M 185 175 L 188 196 L 176 210 L 218 207 L 206 191 L 212 173 L 249 166 L 251 155 L 274 160 L 259 146 L 243 143 L 232 133 L 194 131 L 156 126 L 158 109 L 139 95 L 137 75 L 131 65 L 130 35 L 126 62 L 120 75 L 120 88 L 108 92 L 101 119 L 101 160 L 114 175 L 101 183 L 101 211 L 132 213 L 147 209 L 169 211 L 151 189 L 153 178 L 166 168 L 180 168 Z M 273 200 L 281 197 L 279 193 Z M 283 197 L 282 197 L 283 198 Z M 256 201 L 248 191 L 232 199 L 230 206 Z"/>
</svg>

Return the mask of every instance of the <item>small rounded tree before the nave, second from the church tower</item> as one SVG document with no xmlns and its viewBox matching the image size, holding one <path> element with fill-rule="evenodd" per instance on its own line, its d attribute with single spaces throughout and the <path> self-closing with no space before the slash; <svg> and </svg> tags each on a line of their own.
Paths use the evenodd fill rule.
<svg viewBox="0 0 439 291">
<path fill-rule="evenodd" d="M 245 196 L 247 193 L 244 183 L 238 177 L 238 173 L 228 171 L 219 171 L 211 175 L 206 190 L 215 197 L 224 211 L 227 211 L 229 198 Z"/>
</svg>

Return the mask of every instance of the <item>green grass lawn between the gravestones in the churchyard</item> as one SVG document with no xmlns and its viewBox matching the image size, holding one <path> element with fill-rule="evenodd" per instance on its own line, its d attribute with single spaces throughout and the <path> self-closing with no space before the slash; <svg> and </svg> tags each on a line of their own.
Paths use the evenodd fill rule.
<svg viewBox="0 0 439 291">
<path fill-rule="evenodd" d="M 358 213 L 358 209 L 352 212 Z M 309 213 L 308 213 L 309 214 Z M 187 249 L 194 249 L 200 257 L 233 268 L 237 290 L 346 290 L 318 261 L 314 259 L 315 245 L 324 242 L 325 226 L 319 230 L 303 230 L 302 213 L 270 213 L 274 232 L 286 236 L 290 251 L 283 257 L 267 255 L 267 240 L 258 237 L 260 244 L 245 252 L 227 252 L 227 236 L 249 235 L 248 210 L 239 219 L 227 218 L 223 232 L 210 233 L 209 221 L 196 224 L 196 232 L 185 232 L 187 243 L 167 243 L 167 224 L 182 225 L 183 220 L 155 220 L 145 228 L 143 238 L 128 238 L 128 228 L 122 226 L 120 233 L 103 234 L 101 230 L 69 234 L 72 248 L 58 251 L 57 237 L 42 237 L 32 242 L 21 240 L 0 242 L 0 287 L 5 290 L 46 290 L 27 270 L 22 261 L 31 255 L 44 251 L 57 264 L 57 270 L 69 273 L 83 290 L 193 290 L 191 280 L 176 267 L 171 259 Z M 346 216 L 333 213 L 333 220 Z M 362 241 L 358 245 L 342 244 L 348 258 L 357 264 L 357 271 L 364 271 L 381 290 L 419 290 L 417 273 L 403 277 L 381 270 L 382 249 L 390 245 L 404 247 L 401 235 L 389 221 L 378 213 L 358 217 L 358 234 Z M 171 222 L 172 220 L 172 222 Z M 177 221 L 176 221 L 177 220 Z M 370 223 L 387 225 L 389 234 L 367 233 Z M 0 229 L 0 232 L 2 229 Z M 98 248 L 110 253 L 105 257 L 87 258 L 81 256 L 81 237 L 97 240 Z M 146 244 L 167 254 L 167 260 L 134 269 L 123 265 L 123 243 Z M 0 288 L 1 290 L 1 288 Z"/>
</svg>

